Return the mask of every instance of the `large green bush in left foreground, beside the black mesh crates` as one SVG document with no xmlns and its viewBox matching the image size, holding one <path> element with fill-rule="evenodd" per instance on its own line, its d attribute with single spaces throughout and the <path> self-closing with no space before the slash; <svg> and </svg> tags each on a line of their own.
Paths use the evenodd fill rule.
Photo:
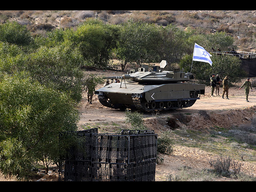
<svg viewBox="0 0 256 192">
<path fill-rule="evenodd" d="M 58 162 L 72 138 L 59 141 L 61 132 L 77 129 L 79 112 L 66 94 L 27 78 L 1 75 L 0 169 L 25 175 L 33 163 Z"/>
</svg>

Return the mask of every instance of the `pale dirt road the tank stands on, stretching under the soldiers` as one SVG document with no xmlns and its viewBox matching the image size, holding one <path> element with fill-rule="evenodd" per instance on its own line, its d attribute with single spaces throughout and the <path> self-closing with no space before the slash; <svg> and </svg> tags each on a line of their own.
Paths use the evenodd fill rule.
<svg viewBox="0 0 256 192">
<path fill-rule="evenodd" d="M 100 86 L 99 86 L 100 87 Z M 170 116 L 175 112 L 182 113 L 194 113 L 198 110 L 205 110 L 206 112 L 214 112 L 218 110 L 230 110 L 230 109 L 243 109 L 248 108 L 250 106 L 256 105 L 256 88 L 253 88 L 254 92 L 250 92 L 249 94 L 249 102 L 246 102 L 246 98 L 244 95 L 244 90 L 239 90 L 239 87 L 231 87 L 229 90 L 229 100 L 226 99 L 226 95 L 224 99 L 222 96 L 210 97 L 210 87 L 206 86 L 205 95 L 201 95 L 200 99 L 195 102 L 195 104 L 189 108 L 171 110 L 171 111 L 161 111 L 160 114 L 162 116 Z M 215 95 L 215 94 L 214 94 Z M 222 95 L 222 89 L 220 89 L 220 95 Z M 86 94 L 83 96 L 83 100 L 80 103 L 80 112 L 81 112 L 81 120 L 79 122 L 80 125 L 86 123 L 96 123 L 96 122 L 120 122 L 124 121 L 125 113 L 120 110 L 114 110 L 111 108 L 107 108 L 102 106 L 98 101 L 96 95 L 93 96 L 92 104 L 89 104 L 86 100 Z M 151 117 L 152 112 L 147 112 L 144 114 L 144 117 Z"/>
</svg>

